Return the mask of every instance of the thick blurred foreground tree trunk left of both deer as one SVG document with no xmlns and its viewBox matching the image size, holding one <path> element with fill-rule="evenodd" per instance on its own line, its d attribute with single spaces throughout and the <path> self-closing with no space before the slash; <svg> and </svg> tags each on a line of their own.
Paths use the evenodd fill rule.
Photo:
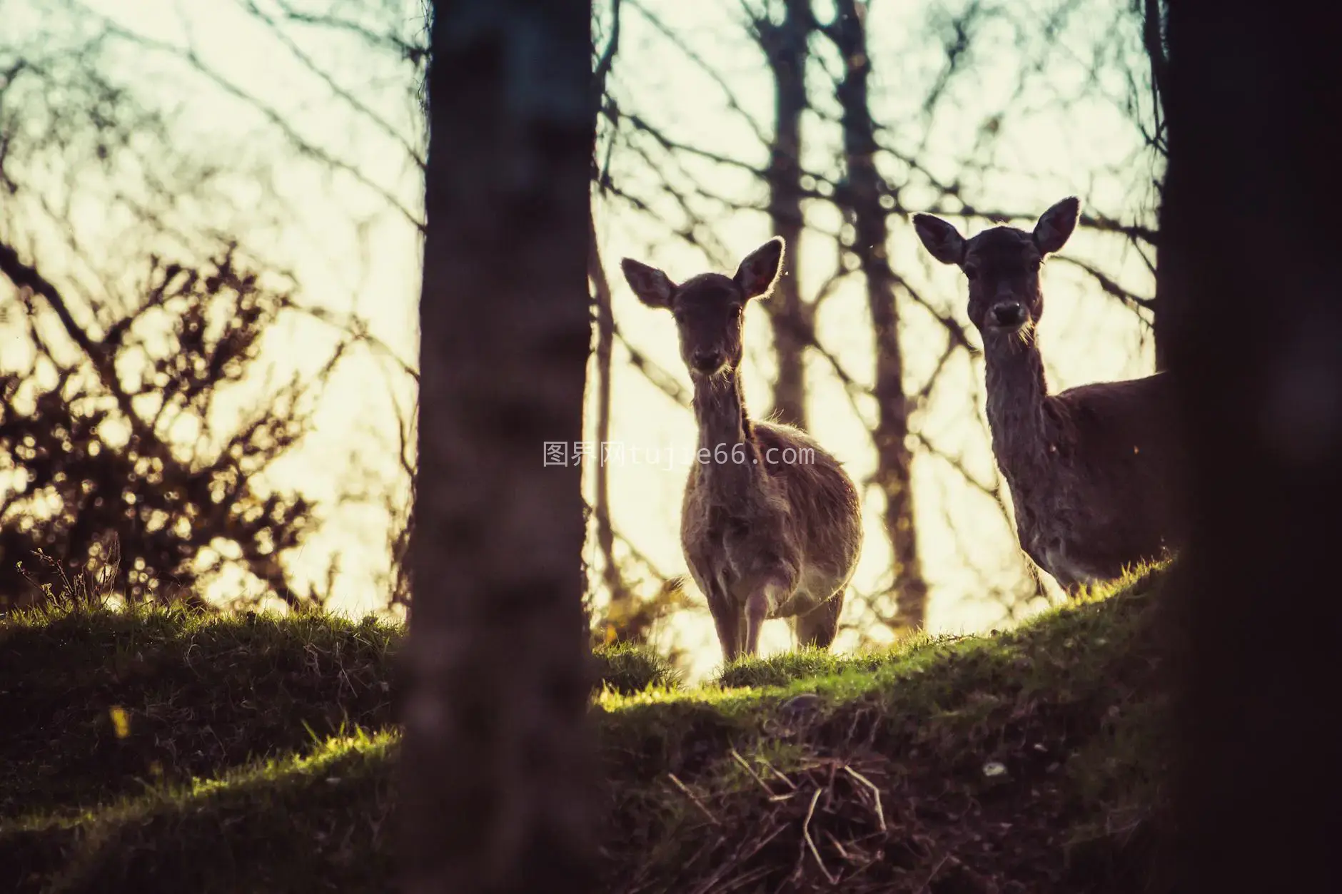
<svg viewBox="0 0 1342 894">
<path fill-rule="evenodd" d="M 403 890 L 588 890 L 580 468 L 590 3 L 439 3 Z M 549 454 L 545 454 L 546 458 Z"/>
</svg>

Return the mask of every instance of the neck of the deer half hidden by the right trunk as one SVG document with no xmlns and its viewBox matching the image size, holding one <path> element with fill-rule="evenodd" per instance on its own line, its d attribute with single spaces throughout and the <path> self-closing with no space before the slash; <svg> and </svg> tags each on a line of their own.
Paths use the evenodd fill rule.
<svg viewBox="0 0 1342 894">
<path fill-rule="evenodd" d="M 993 454 L 1012 491 L 1029 490 L 1044 474 L 1056 440 L 1052 417 L 1045 412 L 1048 380 L 1036 330 L 985 338 L 984 361 Z"/>
</svg>

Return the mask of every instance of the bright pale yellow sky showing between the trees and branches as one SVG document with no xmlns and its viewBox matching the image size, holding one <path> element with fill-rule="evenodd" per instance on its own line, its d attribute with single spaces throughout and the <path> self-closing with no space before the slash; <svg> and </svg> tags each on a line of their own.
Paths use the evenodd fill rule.
<svg viewBox="0 0 1342 894">
<path fill-rule="evenodd" d="M 267 260 L 290 270 L 310 305 L 365 317 L 373 333 L 401 358 L 416 354 L 416 302 L 419 297 L 419 242 L 415 227 L 399 208 L 419 215 L 421 183 L 409 162 L 407 146 L 417 145 L 419 123 L 411 102 L 409 66 L 395 55 L 370 51 L 366 44 L 329 30 L 289 26 L 280 32 L 267 27 L 243 0 L 90 0 L 89 8 L 160 47 L 132 48 L 122 44 L 111 54 L 114 77 L 176 109 L 180 146 L 187 152 L 216 153 L 216 161 L 239 170 L 229 189 L 240 212 L 221 226 L 231 226 Z M 382 5 L 416 27 L 416 0 L 307 0 L 293 4 L 309 11 L 334 9 L 345 17 L 366 17 L 381 30 L 388 20 Z M 713 68 L 721 72 L 739 103 L 765 129 L 772 113 L 772 86 L 758 51 L 741 34 L 737 4 L 717 0 L 643 0 L 660 21 Z M 868 16 L 874 64 L 872 102 L 878 123 L 900 150 L 917 153 L 937 177 L 954 180 L 965 160 L 978 162 L 966 175 L 966 199 L 980 208 L 1039 213 L 1066 195 L 1082 197 L 1083 209 L 1125 220 L 1150 215 L 1146 157 L 1141 134 L 1122 103 L 1126 86 L 1115 64 L 1123 52 L 1137 50 L 1130 32 L 1115 28 L 1114 4 L 1088 0 L 1079 5 L 1056 0 L 985 4 L 986 15 L 972 44 L 970 74 L 951 79 L 933 115 L 921 111 L 930 87 L 945 64 L 938 40 L 960 3 L 895 3 L 875 0 Z M 1076 5 L 1067 16 L 1053 11 Z M 824 7 L 824 3 L 817 4 Z M 275 13 L 276 0 L 256 0 L 262 15 Z M 54 11 L 58 9 L 58 11 Z M 43 11 L 39 13 L 39 11 Z M 821 9 L 821 15 L 825 12 Z M 11 35 L 25 30 L 72 35 L 93 27 L 95 19 L 64 0 L 0 0 L 0 20 Z M 1045 30 L 1049 26 L 1051 31 Z M 625 7 L 621 54 L 615 71 L 617 95 L 627 110 L 655 123 L 675 140 L 762 166 L 764 149 L 741 117 L 727 106 L 722 89 L 671 44 L 633 7 Z M 1043 35 L 1051 34 L 1052 39 Z M 291 44 L 289 42 L 293 42 Z M 3 47 L 20 46 L 19 36 L 0 38 Z M 330 82 L 314 77 L 299 63 L 294 47 L 307 54 Z M 1099 51 L 1096 51 L 1099 47 Z M 208 75 L 192 71 L 183 55 L 193 52 Z M 828 54 L 825 64 L 837 60 Z M 1041 60 L 1040 64 L 1031 64 Z M 1141 74 L 1141 66 L 1134 66 Z M 824 74 L 811 72 L 816 91 Z M 333 87 L 333 85 L 336 85 Z M 255 99 L 242 101 L 236 93 Z M 357 98 L 366 113 L 357 111 L 344 93 Z M 832 111 L 832 101 L 820 105 Z M 982 141 L 984 121 L 1002 117 L 990 149 Z M 338 158 L 345 170 L 314 161 L 290 161 L 291 134 Z M 386 126 L 384 126 L 386 125 Z M 833 129 L 809 115 L 805 165 L 832 170 Z M 276 164 L 278 162 L 278 164 Z M 274 165 L 275 177 L 258 188 L 248 180 L 254 168 Z M 632 157 L 619 158 L 616 170 L 631 184 L 644 184 L 648 175 Z M 706 189 L 758 201 L 758 189 L 738 172 L 709 164 L 687 164 Z M 894 162 L 886 173 L 910 185 L 902 200 L 921 208 L 934 199 Z M 268 192 L 267 192 L 268 191 Z M 399 208 L 397 208 L 399 207 Z M 248 209 L 278 208 L 287 217 L 279 226 L 258 224 Z M 616 319 L 628 340 L 688 387 L 675 345 L 670 318 L 644 309 L 619 278 L 617 260 L 631 255 L 663 266 L 674 279 L 709 268 L 696 250 L 678 242 L 664 228 L 619 208 L 599 205 L 600 250 L 612 275 Z M 836 230 L 839 221 L 827 209 L 812 209 L 811 223 Z M 212 212 L 211 212 L 212 213 Z M 674 209 L 671 209 L 674 216 Z M 769 236 L 762 215 L 730 216 L 711 209 L 714 235 L 729 260 L 735 260 Z M 82 221 L 91 240 L 106 235 L 106 217 L 97 204 Z M 976 221 L 969 234 L 986 226 Z M 102 227 L 102 230 L 99 230 Z M 930 262 L 911 227 L 892 219 L 890 251 L 898 270 L 911 285 L 964 319 L 964 283 L 954 271 Z M 804 295 L 828 277 L 833 266 L 832 243 L 805 242 L 796 259 Z M 1068 254 L 1103 267 L 1139 294 L 1153 291 L 1151 278 L 1121 239 L 1080 232 Z M 854 279 L 827 303 L 820 318 L 820 338 L 859 380 L 870 376 L 870 326 L 864 297 Z M 1150 369 L 1134 315 L 1091 286 L 1083 274 L 1062 263 L 1048 267 L 1044 279 L 1048 310 L 1041 328 L 1044 352 L 1055 388 L 1086 381 L 1141 375 Z M 902 332 L 910 377 L 922 376 L 943 345 L 935 325 L 917 307 L 902 307 Z M 769 405 L 770 360 L 765 345 L 768 324 L 758 307 L 747 314 L 747 403 L 764 412 Z M 309 319 L 295 319 L 286 333 L 276 333 L 270 360 L 278 370 L 311 370 L 325 360 L 329 334 Z M 684 568 L 678 525 L 680 490 L 686 467 L 667 467 L 667 450 L 676 456 L 694 443 L 694 421 L 662 392 L 625 365 L 616 350 L 612 440 L 625 446 L 627 460 L 611 471 L 611 490 L 617 526 L 640 550 L 668 573 Z M 811 428 L 823 444 L 843 459 L 855 478 L 872 467 L 864 419 L 874 407 L 854 408 L 837 380 L 813 358 Z M 917 419 L 921 430 L 942 448 L 964 454 L 981 479 L 992 479 L 992 459 L 974 424 L 973 397 L 981 393 L 981 369 L 964 360 L 949 370 L 930 407 Z M 393 372 L 386 358 L 362 354 L 348 361 L 321 407 L 318 430 L 303 450 L 279 470 L 314 497 L 330 498 L 350 486 L 358 474 L 369 474 L 381 486 L 396 481 L 397 439 L 395 395 L 401 405 L 412 399 L 409 383 Z M 239 397 L 239 403 L 243 403 Z M 660 448 L 659 464 L 632 462 L 632 451 L 646 455 Z M 541 446 L 537 446 L 541 462 Z M 992 503 L 973 493 L 954 473 L 935 459 L 915 463 L 915 499 L 922 537 L 925 572 L 933 584 L 930 627 L 935 631 L 977 630 L 996 623 L 1000 608 L 985 603 L 982 589 L 1004 575 L 1017 573 L 1016 544 Z M 860 591 L 879 585 L 888 552 L 876 524 L 879 502 L 868 501 L 867 545 L 854 581 Z M 951 526 L 958 534 L 951 536 Z M 326 568 L 338 557 L 344 576 L 336 605 L 346 611 L 377 608 L 382 595 L 373 576 L 385 568 L 386 519 L 378 510 L 349 507 L 333 511 L 291 568 L 299 579 L 325 580 Z M 957 549 L 968 548 L 966 556 Z M 595 557 L 595 553 L 593 553 Z M 985 583 L 986 581 L 986 583 Z M 692 673 L 718 660 L 711 627 L 702 613 L 666 631 L 694 650 Z M 668 640 L 667 640 L 668 642 Z M 766 626 L 765 651 L 788 647 L 781 623 Z M 837 647 L 844 647 L 840 642 Z"/>
</svg>

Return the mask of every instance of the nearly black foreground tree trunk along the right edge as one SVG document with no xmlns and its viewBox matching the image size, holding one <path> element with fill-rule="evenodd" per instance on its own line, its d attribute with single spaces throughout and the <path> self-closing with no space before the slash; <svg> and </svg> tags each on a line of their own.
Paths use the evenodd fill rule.
<svg viewBox="0 0 1342 894">
<path fill-rule="evenodd" d="M 1339 886 L 1335 20 L 1326 4 L 1170 3 L 1159 260 L 1193 456 L 1170 592 L 1178 891 Z"/>
</svg>

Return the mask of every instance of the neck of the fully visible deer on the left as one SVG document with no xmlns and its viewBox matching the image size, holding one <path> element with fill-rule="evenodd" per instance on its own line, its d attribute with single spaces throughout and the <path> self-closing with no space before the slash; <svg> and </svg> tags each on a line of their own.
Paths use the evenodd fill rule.
<svg viewBox="0 0 1342 894">
<path fill-rule="evenodd" d="M 762 470 L 737 370 L 695 380 L 694 417 L 699 423 L 696 460 L 703 482 L 722 491 L 723 499 L 743 495 Z"/>
</svg>

